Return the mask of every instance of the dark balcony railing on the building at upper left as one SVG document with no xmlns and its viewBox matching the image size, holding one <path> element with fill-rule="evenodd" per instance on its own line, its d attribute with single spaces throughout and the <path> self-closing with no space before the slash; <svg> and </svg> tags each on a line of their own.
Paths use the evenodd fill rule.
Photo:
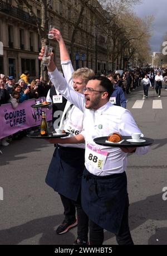
<svg viewBox="0 0 167 256">
<path fill-rule="evenodd" d="M 2 0 L 0 0 L 0 12 L 4 12 L 7 15 L 19 18 L 22 21 L 26 21 L 30 23 L 36 22 L 35 18 L 31 17 L 28 12 L 24 12 L 21 9 L 15 6 L 12 6 L 11 4 L 6 3 Z M 38 18 L 38 21 L 41 21 L 41 19 Z"/>
</svg>

